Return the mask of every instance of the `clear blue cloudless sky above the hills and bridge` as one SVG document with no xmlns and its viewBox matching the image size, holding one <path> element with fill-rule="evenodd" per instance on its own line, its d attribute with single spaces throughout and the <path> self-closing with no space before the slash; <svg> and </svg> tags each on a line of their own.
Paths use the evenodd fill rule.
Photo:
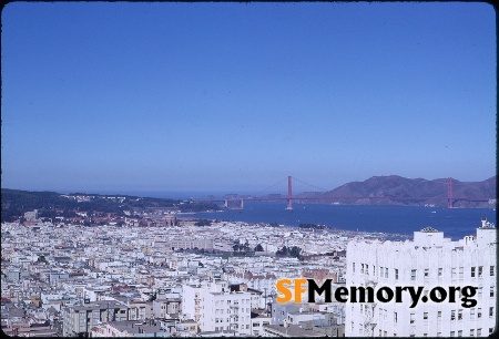
<svg viewBox="0 0 499 339">
<path fill-rule="evenodd" d="M 490 4 L 13 2 L 1 19 L 2 187 L 496 175 Z"/>
</svg>

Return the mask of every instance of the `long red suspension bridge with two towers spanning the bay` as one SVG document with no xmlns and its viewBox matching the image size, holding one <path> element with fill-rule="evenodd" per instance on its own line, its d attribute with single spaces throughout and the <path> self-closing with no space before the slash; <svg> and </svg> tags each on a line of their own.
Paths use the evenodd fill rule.
<svg viewBox="0 0 499 339">
<path fill-rule="evenodd" d="M 278 183 L 268 186 L 264 192 L 268 192 L 273 187 L 275 187 L 278 184 L 282 184 L 285 179 L 279 181 Z M 449 177 L 447 181 L 447 195 L 437 195 L 437 196 L 389 196 L 389 195 L 383 195 L 383 196 L 328 196 L 328 195 L 314 195 L 314 196 L 304 196 L 304 195 L 293 195 L 293 181 L 296 181 L 298 183 L 302 183 L 308 187 L 313 187 L 315 189 L 319 189 L 323 192 L 327 192 L 328 189 L 320 188 L 317 186 L 314 186 L 312 184 L 305 183 L 296 177 L 292 177 L 291 175 L 287 176 L 287 194 L 268 194 L 266 196 L 245 196 L 245 197 L 238 197 L 237 195 L 232 195 L 232 197 L 224 197 L 224 198 L 208 198 L 204 201 L 210 202 L 218 202 L 223 203 L 224 208 L 228 209 L 243 209 L 245 202 L 275 202 L 275 201 L 286 201 L 287 206 L 286 209 L 293 209 L 293 202 L 332 202 L 332 201 L 360 201 L 360 199 L 367 199 L 367 201 L 375 201 L 375 199 L 385 199 L 385 201 L 435 201 L 435 199 L 446 199 L 447 201 L 447 208 L 452 208 L 454 204 L 458 201 L 465 201 L 465 202 L 476 202 L 476 203 L 482 203 L 482 202 L 489 202 L 490 199 L 477 199 L 477 198 L 467 198 L 467 197 L 454 197 L 452 196 L 452 178 Z M 329 189 L 330 191 L 330 189 Z"/>
</svg>

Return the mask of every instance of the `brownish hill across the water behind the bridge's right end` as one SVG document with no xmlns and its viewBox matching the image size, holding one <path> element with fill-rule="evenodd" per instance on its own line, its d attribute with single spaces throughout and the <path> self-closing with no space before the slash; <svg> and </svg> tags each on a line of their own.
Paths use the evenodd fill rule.
<svg viewBox="0 0 499 339">
<path fill-rule="evenodd" d="M 496 204 L 489 204 L 489 199 L 495 199 L 496 194 L 496 176 L 471 183 L 452 179 L 454 207 L 496 207 Z M 447 206 L 447 196 L 448 178 L 427 181 L 388 175 L 347 183 L 326 193 L 303 193 L 297 197 L 306 197 L 312 203 L 325 197 L 327 199 L 322 201 L 323 203 L 345 205 Z M 317 201 L 310 199 L 315 197 Z"/>
</svg>

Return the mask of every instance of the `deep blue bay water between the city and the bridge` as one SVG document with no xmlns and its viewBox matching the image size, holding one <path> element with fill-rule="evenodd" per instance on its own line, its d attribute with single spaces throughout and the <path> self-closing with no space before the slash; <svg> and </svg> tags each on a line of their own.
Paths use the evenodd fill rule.
<svg viewBox="0 0 499 339">
<path fill-rule="evenodd" d="M 431 226 L 452 240 L 475 235 L 486 217 L 496 224 L 491 208 L 441 208 L 413 206 L 347 206 L 326 204 L 294 204 L 286 210 L 285 202 L 245 202 L 244 209 L 196 213 L 193 217 L 246 223 L 277 223 L 286 226 L 299 224 L 326 225 L 333 228 L 369 233 L 413 235 L 415 230 Z"/>
</svg>

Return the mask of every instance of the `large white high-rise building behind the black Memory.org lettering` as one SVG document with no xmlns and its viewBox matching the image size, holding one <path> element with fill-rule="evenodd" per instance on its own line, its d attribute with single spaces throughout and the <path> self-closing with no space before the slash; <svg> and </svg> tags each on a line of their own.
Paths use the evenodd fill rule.
<svg viewBox="0 0 499 339">
<path fill-rule="evenodd" d="M 403 302 L 350 302 L 346 306 L 346 337 L 487 337 L 496 329 L 497 309 L 496 228 L 482 218 L 477 234 L 458 242 L 431 227 L 414 233 L 409 242 L 350 242 L 347 247 L 346 285 L 350 287 L 421 286 L 430 297 L 434 287 L 447 290 L 442 302 L 422 302 L 411 308 L 408 291 Z M 475 307 L 465 307 L 464 296 L 449 287 L 472 286 Z M 441 297 L 439 294 L 436 296 Z M 357 294 L 357 301 L 358 299 Z"/>
</svg>

